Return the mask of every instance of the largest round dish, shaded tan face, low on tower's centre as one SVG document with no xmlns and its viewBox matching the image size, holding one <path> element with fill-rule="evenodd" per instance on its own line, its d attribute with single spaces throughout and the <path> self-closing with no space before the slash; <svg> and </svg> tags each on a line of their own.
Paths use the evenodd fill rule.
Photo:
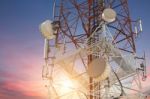
<svg viewBox="0 0 150 99">
<path fill-rule="evenodd" d="M 108 77 L 109 66 L 108 66 L 107 62 L 105 61 L 105 59 L 97 58 L 97 59 L 94 59 L 89 64 L 87 73 L 92 78 L 104 80 Z"/>
</svg>

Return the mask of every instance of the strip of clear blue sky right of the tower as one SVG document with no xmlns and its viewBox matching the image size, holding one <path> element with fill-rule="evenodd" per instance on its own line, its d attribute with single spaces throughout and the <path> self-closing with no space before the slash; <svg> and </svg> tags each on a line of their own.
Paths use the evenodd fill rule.
<svg viewBox="0 0 150 99">
<path fill-rule="evenodd" d="M 141 18 L 142 25 L 143 25 L 143 32 L 139 35 L 136 45 L 137 45 L 137 52 L 142 53 L 146 51 L 147 59 L 150 57 L 150 10 L 149 0 L 129 0 L 130 6 L 130 13 L 133 19 Z M 150 64 L 149 60 L 147 61 L 148 65 Z"/>
</svg>

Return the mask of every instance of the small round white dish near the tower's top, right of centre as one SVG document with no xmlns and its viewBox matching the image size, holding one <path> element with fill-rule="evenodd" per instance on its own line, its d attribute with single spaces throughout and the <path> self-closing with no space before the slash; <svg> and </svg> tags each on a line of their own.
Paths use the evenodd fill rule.
<svg viewBox="0 0 150 99">
<path fill-rule="evenodd" d="M 109 23 L 113 22 L 116 19 L 116 12 L 111 8 L 107 8 L 102 13 L 102 19 Z"/>
</svg>

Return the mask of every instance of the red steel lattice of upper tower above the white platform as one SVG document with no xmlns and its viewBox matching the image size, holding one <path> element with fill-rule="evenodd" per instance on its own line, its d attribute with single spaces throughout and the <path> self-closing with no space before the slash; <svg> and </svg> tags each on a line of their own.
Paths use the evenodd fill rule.
<svg viewBox="0 0 150 99">
<path fill-rule="evenodd" d="M 108 7 L 117 11 L 116 21 L 108 25 L 113 34 L 113 43 L 120 45 L 118 47 L 123 51 L 136 52 L 134 21 L 130 18 L 127 0 L 59 0 L 55 20 L 60 22 L 59 31 L 69 38 L 67 42 L 79 46 L 102 21 L 102 12 Z"/>
</svg>

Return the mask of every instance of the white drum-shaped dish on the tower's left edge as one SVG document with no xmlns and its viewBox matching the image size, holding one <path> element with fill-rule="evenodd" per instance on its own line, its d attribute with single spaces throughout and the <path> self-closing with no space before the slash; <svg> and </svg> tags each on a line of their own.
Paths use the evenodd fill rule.
<svg viewBox="0 0 150 99">
<path fill-rule="evenodd" d="M 40 31 L 44 38 L 46 39 L 54 39 L 54 30 L 53 30 L 53 25 L 51 20 L 46 20 L 40 25 Z"/>
</svg>

